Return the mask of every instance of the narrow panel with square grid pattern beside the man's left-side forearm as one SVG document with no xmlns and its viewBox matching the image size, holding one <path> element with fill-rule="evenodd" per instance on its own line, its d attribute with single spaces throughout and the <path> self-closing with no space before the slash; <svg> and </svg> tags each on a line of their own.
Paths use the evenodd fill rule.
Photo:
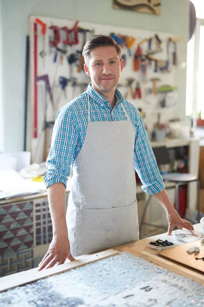
<svg viewBox="0 0 204 307">
<path fill-rule="evenodd" d="M 50 243 L 53 238 L 53 227 L 47 198 L 38 199 L 34 202 L 34 215 L 34 246 Z"/>
</svg>

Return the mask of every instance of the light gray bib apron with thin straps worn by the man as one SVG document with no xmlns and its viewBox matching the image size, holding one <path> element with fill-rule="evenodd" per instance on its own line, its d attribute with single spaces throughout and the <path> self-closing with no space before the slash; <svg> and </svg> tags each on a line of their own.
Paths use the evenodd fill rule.
<svg viewBox="0 0 204 307">
<path fill-rule="evenodd" d="M 72 256 L 138 240 L 135 131 L 127 120 L 90 122 L 73 165 L 67 207 Z"/>
</svg>

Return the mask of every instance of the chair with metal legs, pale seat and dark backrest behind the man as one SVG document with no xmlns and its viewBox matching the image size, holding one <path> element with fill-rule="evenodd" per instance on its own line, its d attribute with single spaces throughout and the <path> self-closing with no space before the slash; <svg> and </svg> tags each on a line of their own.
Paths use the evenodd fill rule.
<svg viewBox="0 0 204 307">
<path fill-rule="evenodd" d="M 158 165 L 170 163 L 169 152 L 168 152 L 167 147 L 157 147 L 157 148 L 152 148 L 152 150 L 154 151 Z M 179 212 L 179 185 L 181 183 L 187 184 L 187 183 L 190 183 L 190 182 L 193 182 L 193 181 L 197 182 L 197 212 L 198 213 L 197 213 L 196 221 L 190 220 L 189 218 L 186 218 L 186 220 L 190 221 L 193 224 L 199 223 L 199 220 L 200 220 L 200 182 L 199 182 L 197 176 L 195 176 L 194 174 L 190 174 L 190 173 L 166 173 L 162 176 L 162 178 L 163 178 L 164 182 L 175 183 L 175 210 L 177 212 Z M 172 188 L 172 187 L 169 187 L 169 188 Z M 168 188 L 166 188 L 166 189 L 168 189 Z M 161 225 L 155 225 L 155 224 L 150 224 L 150 223 L 144 222 L 145 214 L 146 214 L 146 211 L 147 211 L 147 208 L 149 206 L 149 203 L 151 201 L 152 196 L 153 195 L 149 195 L 149 198 L 148 198 L 148 200 L 145 204 L 145 207 L 144 207 L 144 211 L 142 213 L 140 226 L 139 226 L 140 233 L 142 231 L 143 225 L 166 229 L 166 227 L 161 226 Z M 181 216 L 181 217 L 183 217 L 183 216 Z"/>
</svg>

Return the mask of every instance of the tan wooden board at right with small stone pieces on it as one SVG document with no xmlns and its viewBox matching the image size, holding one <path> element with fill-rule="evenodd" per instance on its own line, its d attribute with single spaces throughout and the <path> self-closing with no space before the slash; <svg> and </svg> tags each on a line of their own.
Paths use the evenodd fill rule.
<svg viewBox="0 0 204 307">
<path fill-rule="evenodd" d="M 198 246 L 200 248 L 200 252 L 194 252 L 192 254 L 187 253 L 186 251 L 193 245 Z M 199 240 L 184 245 L 176 246 L 166 251 L 158 252 L 158 254 L 204 273 L 204 261 L 195 259 L 196 257 L 204 257 L 204 246 L 200 245 Z"/>
</svg>

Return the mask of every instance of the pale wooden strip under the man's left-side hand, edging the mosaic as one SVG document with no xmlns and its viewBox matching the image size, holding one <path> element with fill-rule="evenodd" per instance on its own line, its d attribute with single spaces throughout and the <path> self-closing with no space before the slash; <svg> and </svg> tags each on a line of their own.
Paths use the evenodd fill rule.
<svg viewBox="0 0 204 307">
<path fill-rule="evenodd" d="M 23 284 L 31 283 L 33 281 L 59 274 L 71 269 L 79 268 L 84 265 L 90 264 L 93 261 L 105 259 L 107 257 L 114 256 L 117 254 L 119 254 L 118 251 L 110 249 L 93 255 L 82 256 L 78 260 L 67 262 L 60 266 L 54 266 L 50 269 L 38 271 L 38 268 L 35 268 L 28 271 L 8 275 L 1 278 L 0 292 L 6 291 L 14 287 L 19 287 Z"/>
</svg>

